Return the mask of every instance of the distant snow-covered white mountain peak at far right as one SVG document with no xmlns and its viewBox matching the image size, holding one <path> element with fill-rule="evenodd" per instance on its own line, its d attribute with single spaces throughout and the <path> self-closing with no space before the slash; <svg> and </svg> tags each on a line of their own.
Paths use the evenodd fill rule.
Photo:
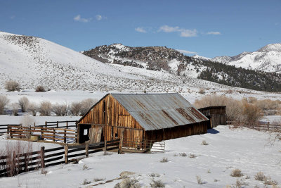
<svg viewBox="0 0 281 188">
<path fill-rule="evenodd" d="M 281 73 L 281 43 L 268 44 L 257 51 L 243 52 L 237 56 L 218 56 L 211 61 L 251 70 Z"/>
</svg>

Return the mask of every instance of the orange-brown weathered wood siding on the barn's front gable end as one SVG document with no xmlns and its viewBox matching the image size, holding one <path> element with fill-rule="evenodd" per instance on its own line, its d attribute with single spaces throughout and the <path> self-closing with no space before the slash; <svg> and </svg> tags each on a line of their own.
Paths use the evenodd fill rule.
<svg viewBox="0 0 281 188">
<path fill-rule="evenodd" d="M 122 128 L 124 137 L 143 139 L 144 129 L 110 94 L 101 99 L 91 111 L 82 118 L 79 124 L 91 124 L 92 127 L 103 127 L 102 140 L 110 141 L 120 137 Z"/>
</svg>

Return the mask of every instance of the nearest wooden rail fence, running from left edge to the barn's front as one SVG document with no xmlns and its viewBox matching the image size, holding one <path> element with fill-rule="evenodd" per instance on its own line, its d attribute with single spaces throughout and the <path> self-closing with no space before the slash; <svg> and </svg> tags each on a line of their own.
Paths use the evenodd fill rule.
<svg viewBox="0 0 281 188">
<path fill-rule="evenodd" d="M 86 144 L 81 146 L 68 146 L 68 144 L 65 144 L 65 146 L 53 149 L 45 149 L 43 146 L 40 151 L 18 154 L 14 151 L 9 156 L 0 156 L 0 177 L 18 175 L 19 173 L 51 165 L 77 161 L 77 158 L 89 157 L 90 153 L 117 150 L 119 149 L 119 142 L 120 140 L 116 139 L 96 144 L 88 144 L 86 142 Z"/>
</svg>

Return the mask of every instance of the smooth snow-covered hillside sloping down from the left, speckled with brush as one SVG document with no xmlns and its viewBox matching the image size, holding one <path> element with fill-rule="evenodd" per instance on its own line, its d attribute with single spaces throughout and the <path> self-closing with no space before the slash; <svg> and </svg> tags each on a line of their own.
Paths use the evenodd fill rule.
<svg viewBox="0 0 281 188">
<path fill-rule="evenodd" d="M 120 54 L 122 51 L 129 51 L 129 48 L 117 44 L 114 48 Z M 110 57 L 114 56 L 112 53 L 115 52 L 107 51 Z M 133 58 L 137 56 L 144 58 L 142 54 Z M 97 59 L 103 62 L 106 60 Z M 98 60 L 46 39 L 0 32 L 1 88 L 4 88 L 7 80 L 15 80 L 22 88 L 29 89 L 38 85 L 43 85 L 46 89 L 136 92 L 187 92 L 190 87 L 195 90 L 200 87 L 230 89 L 222 84 L 194 77 L 155 72 L 153 64 L 150 65 L 151 70 L 146 70 L 141 68 L 138 61 L 136 67 L 131 67 Z M 129 65 L 131 61 L 127 63 Z"/>
</svg>

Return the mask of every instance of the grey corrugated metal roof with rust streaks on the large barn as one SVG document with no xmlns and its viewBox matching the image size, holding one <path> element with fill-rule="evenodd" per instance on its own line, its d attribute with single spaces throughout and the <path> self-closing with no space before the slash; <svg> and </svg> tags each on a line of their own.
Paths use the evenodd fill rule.
<svg viewBox="0 0 281 188">
<path fill-rule="evenodd" d="M 159 130 L 208 120 L 178 93 L 112 96 L 145 130 Z"/>
</svg>

